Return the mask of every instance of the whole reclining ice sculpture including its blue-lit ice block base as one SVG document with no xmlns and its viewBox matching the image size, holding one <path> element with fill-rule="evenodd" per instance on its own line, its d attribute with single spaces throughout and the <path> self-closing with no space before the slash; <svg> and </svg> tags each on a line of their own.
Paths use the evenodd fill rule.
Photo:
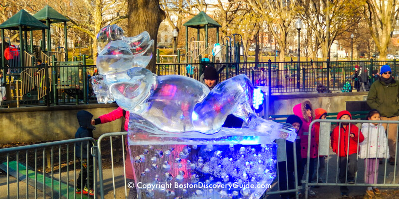
<svg viewBox="0 0 399 199">
<path fill-rule="evenodd" d="M 295 140 L 293 128 L 257 117 L 245 75 L 209 91 L 185 76 L 145 69 L 153 40 L 124 37 L 111 25 L 97 35 L 100 103 L 130 111 L 129 151 L 139 198 L 258 199 L 276 175 L 274 139 Z M 222 128 L 228 114 L 243 128 Z"/>
</svg>

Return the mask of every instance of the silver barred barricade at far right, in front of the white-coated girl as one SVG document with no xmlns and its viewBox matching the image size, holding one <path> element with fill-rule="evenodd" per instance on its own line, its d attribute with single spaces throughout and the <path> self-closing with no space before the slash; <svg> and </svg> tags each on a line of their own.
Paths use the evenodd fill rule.
<svg viewBox="0 0 399 199">
<path fill-rule="evenodd" d="M 346 169 L 346 176 L 345 176 L 345 183 L 342 183 L 340 181 L 338 181 L 338 175 L 339 175 L 339 171 L 340 171 L 340 166 L 339 166 L 339 157 L 336 153 L 334 153 L 332 151 L 332 149 L 330 149 L 330 143 L 331 143 L 331 138 L 330 138 L 330 132 L 333 132 L 333 130 L 331 130 L 331 125 L 337 125 L 337 127 L 339 128 L 339 135 L 341 135 L 341 126 L 342 126 L 342 122 L 345 121 L 349 124 L 354 124 L 356 125 L 359 130 L 358 130 L 358 134 L 359 132 L 361 132 L 362 129 L 362 124 L 363 123 L 372 123 L 372 120 L 342 120 L 342 119 L 316 119 L 314 121 L 311 122 L 310 126 L 309 126 L 309 132 L 312 131 L 312 128 L 314 126 L 315 123 L 320 122 L 320 139 L 319 139 L 319 150 L 318 150 L 318 154 L 317 154 L 317 158 L 316 160 L 312 160 L 310 158 L 310 148 L 308 147 L 307 150 L 307 163 L 306 163 L 306 170 L 305 170 L 305 180 L 303 180 L 302 185 L 305 188 L 305 199 L 308 198 L 308 191 L 309 191 L 309 187 L 310 186 L 348 186 L 348 187 L 353 187 L 353 186 L 363 186 L 363 187 L 374 187 L 374 186 L 378 186 L 378 187 L 395 187 L 395 188 L 399 188 L 399 181 L 398 178 L 396 177 L 397 173 L 399 173 L 399 171 L 397 171 L 397 162 L 398 162 L 398 127 L 399 125 L 396 127 L 396 143 L 395 143 L 395 148 L 396 148 L 396 155 L 395 155 L 395 165 L 387 165 L 388 164 L 388 159 L 385 159 L 385 163 L 384 163 L 384 180 L 382 180 L 381 178 L 378 179 L 378 176 L 375 176 L 375 178 L 377 179 L 377 183 L 375 184 L 366 184 L 365 180 L 366 180 L 366 176 L 364 176 L 364 178 L 360 178 L 359 176 L 362 176 L 362 174 L 365 174 L 365 171 L 367 169 L 367 165 L 365 167 L 361 167 L 363 164 L 363 161 L 359 161 L 359 150 L 360 150 L 360 141 L 358 139 L 358 153 L 357 153 L 357 172 L 355 173 L 355 182 L 354 183 L 348 183 L 348 169 Z M 386 134 L 387 134 L 387 148 L 386 153 L 389 153 L 389 128 L 390 128 L 390 124 L 399 124 L 398 120 L 380 120 L 378 121 L 378 123 L 383 123 L 383 124 L 387 124 L 388 127 L 386 130 Z M 350 126 L 349 126 L 350 127 Z M 349 128 L 348 127 L 348 128 Z M 370 129 L 370 127 L 369 127 Z M 350 129 L 348 129 L 350 131 Z M 363 134 L 363 132 L 362 132 Z M 312 135 L 313 136 L 313 135 Z M 308 146 L 311 145 L 311 137 L 312 136 L 308 136 Z M 338 137 L 338 143 L 340 144 L 341 137 Z M 348 140 L 350 139 L 350 137 L 348 136 Z M 365 142 L 367 142 L 367 140 L 364 140 Z M 349 149 L 349 141 L 347 142 L 348 146 L 347 149 Z M 378 144 L 378 143 L 377 143 Z M 338 145 L 338 150 L 342 150 L 340 149 L 340 145 Z M 339 153 L 339 151 L 337 151 Z M 320 161 L 320 155 L 327 154 L 327 160 L 326 160 L 326 168 L 325 168 L 325 175 L 319 176 L 319 161 Z M 349 158 L 349 153 L 347 153 L 347 168 L 348 168 L 348 158 Z M 334 159 L 336 159 L 336 163 L 335 162 L 331 162 L 331 161 L 335 161 Z M 374 159 L 374 158 L 373 158 Z M 378 160 L 380 158 L 376 158 L 376 160 Z M 316 182 L 311 182 L 312 179 L 309 179 L 309 172 L 310 172 L 310 161 L 316 161 L 315 162 L 315 169 L 314 169 L 314 174 L 313 174 L 313 180 L 316 179 Z M 377 164 L 379 164 L 377 162 Z M 365 168 L 365 169 L 362 169 Z M 381 167 L 380 167 L 381 168 Z M 392 170 L 393 168 L 393 170 Z M 334 173 L 334 169 L 335 169 L 335 173 Z M 331 172 L 332 170 L 332 172 Z M 391 175 L 389 175 L 391 174 Z M 393 175 L 392 175 L 393 174 Z M 388 175 L 388 176 L 387 176 Z M 319 178 L 325 178 L 326 182 L 322 182 L 319 183 L 318 179 Z"/>
</svg>

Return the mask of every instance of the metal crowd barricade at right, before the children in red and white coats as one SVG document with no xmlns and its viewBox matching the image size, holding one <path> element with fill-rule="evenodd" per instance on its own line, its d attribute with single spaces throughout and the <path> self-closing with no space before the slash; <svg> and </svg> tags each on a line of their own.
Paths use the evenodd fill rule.
<svg viewBox="0 0 399 199">
<path fill-rule="evenodd" d="M 320 139 L 316 143 L 318 145 L 317 157 L 310 158 L 311 148 L 314 145 L 312 140 L 315 136 L 312 128 L 317 123 L 320 123 Z M 377 123 L 382 125 L 374 126 L 370 125 L 370 123 L 372 123 L 372 120 L 345 120 L 345 123 L 342 119 L 317 119 L 312 121 L 309 126 L 309 132 L 312 133 L 312 136 L 307 136 L 308 148 L 303 180 L 305 198 L 307 198 L 311 186 L 341 186 L 341 192 L 344 193 L 349 191 L 347 187 L 353 186 L 399 187 L 399 179 L 397 177 L 399 172 L 397 171 L 399 121 L 377 121 Z M 382 128 L 383 125 L 387 126 L 387 128 Z M 331 131 L 332 128 L 335 129 Z M 377 132 L 381 131 L 381 135 L 373 135 L 371 129 L 377 129 L 374 130 Z M 385 130 L 387 130 L 387 133 Z M 353 137 L 351 136 L 352 134 L 354 135 Z M 364 140 L 362 140 L 362 136 L 365 138 Z M 375 145 L 371 144 L 372 141 L 376 141 Z M 380 148 L 380 145 L 384 146 L 384 144 L 387 144 L 386 147 Z M 363 145 L 362 149 L 360 148 L 361 145 Z M 355 151 L 349 151 L 351 146 L 355 147 Z M 371 151 L 373 147 L 378 148 L 376 149 L 377 154 L 380 153 L 380 150 L 381 153 L 385 153 L 385 158 L 371 155 L 372 152 L 369 152 L 369 150 Z M 362 154 L 362 158 L 359 157 L 360 154 Z M 395 157 L 394 165 L 388 164 L 388 157 Z M 365 161 L 361 161 L 361 159 L 365 159 Z M 382 159 L 384 159 L 382 161 L 384 167 L 378 168 L 378 165 L 380 165 L 379 160 Z M 373 164 L 370 164 L 369 162 L 372 161 Z M 312 164 L 314 165 L 313 169 Z M 325 166 L 321 166 L 323 164 Z M 320 170 L 323 167 L 324 169 Z M 370 172 L 374 173 L 370 174 Z M 378 175 L 378 173 L 383 173 L 384 175 Z M 309 177 L 312 179 L 309 179 Z M 372 178 L 374 183 L 370 182 L 369 178 Z"/>
</svg>

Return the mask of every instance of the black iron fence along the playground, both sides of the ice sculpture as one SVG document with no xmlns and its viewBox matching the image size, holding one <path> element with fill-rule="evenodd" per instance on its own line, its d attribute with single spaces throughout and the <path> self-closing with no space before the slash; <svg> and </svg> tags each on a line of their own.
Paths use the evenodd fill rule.
<svg viewBox="0 0 399 199">
<path fill-rule="evenodd" d="M 91 89 L 91 77 L 97 75 L 95 65 L 82 62 L 53 62 L 30 67 L 0 67 L 2 74 L 0 107 L 21 105 L 86 104 L 97 102 Z M 33 62 L 34 63 L 34 62 Z M 255 86 L 269 86 L 271 93 L 367 91 L 373 82 L 373 70 L 391 66 L 395 79 L 399 66 L 393 61 L 320 61 L 259 63 L 172 63 L 157 64 L 157 75 L 184 75 L 202 81 L 206 66 L 219 73 L 219 82 L 245 74 Z M 363 73 L 363 84 L 357 84 L 355 67 Z M 361 87 L 363 86 L 363 87 Z M 4 97 L 4 98 L 3 98 Z"/>
</svg>

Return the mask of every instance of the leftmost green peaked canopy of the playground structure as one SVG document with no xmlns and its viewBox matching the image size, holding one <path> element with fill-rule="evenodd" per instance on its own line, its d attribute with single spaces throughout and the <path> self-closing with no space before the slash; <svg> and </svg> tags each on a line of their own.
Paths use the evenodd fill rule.
<svg viewBox="0 0 399 199">
<path fill-rule="evenodd" d="M 46 25 L 24 9 L 19 10 L 18 13 L 0 24 L 0 29 L 19 30 L 19 27 L 22 27 L 23 31 L 48 29 Z"/>
</svg>

